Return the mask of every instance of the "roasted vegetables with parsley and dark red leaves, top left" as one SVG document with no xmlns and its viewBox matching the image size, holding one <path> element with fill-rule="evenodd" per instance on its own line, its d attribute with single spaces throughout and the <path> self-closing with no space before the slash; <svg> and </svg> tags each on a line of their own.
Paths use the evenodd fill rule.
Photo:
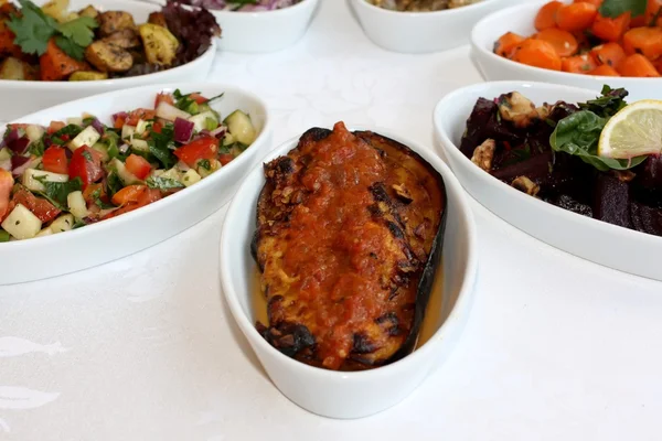
<svg viewBox="0 0 662 441">
<path fill-rule="evenodd" d="M 180 66 L 202 55 L 221 29 L 204 9 L 169 1 L 147 23 L 127 11 L 87 6 L 68 10 L 68 0 L 41 8 L 0 0 L 0 79 L 99 80 Z M 36 32 L 35 30 L 39 30 Z"/>
</svg>

